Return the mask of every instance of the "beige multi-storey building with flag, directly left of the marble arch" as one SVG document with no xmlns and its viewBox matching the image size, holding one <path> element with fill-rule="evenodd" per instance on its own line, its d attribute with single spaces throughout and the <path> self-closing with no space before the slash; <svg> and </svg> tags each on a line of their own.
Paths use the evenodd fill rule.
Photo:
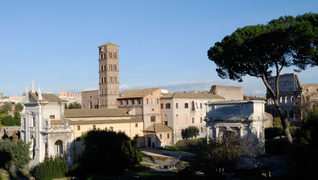
<svg viewBox="0 0 318 180">
<path fill-rule="evenodd" d="M 196 126 L 200 132 L 198 137 L 206 136 L 204 116 L 206 102 L 224 101 L 225 98 L 210 93 L 166 93 L 162 94 L 161 122 L 172 129 L 171 144 L 184 139 L 185 129 Z"/>
</svg>

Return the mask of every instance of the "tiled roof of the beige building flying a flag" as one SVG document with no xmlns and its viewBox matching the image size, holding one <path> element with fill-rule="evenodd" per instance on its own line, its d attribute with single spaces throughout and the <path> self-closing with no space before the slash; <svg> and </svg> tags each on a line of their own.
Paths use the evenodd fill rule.
<svg viewBox="0 0 318 180">
<path fill-rule="evenodd" d="M 160 98 L 189 98 L 189 99 L 225 99 L 224 97 L 210 93 L 162 93 Z"/>
</svg>

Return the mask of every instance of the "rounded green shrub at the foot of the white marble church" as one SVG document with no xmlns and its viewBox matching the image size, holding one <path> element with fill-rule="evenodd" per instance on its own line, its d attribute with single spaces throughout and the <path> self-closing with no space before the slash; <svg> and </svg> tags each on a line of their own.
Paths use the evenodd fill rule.
<svg viewBox="0 0 318 180">
<path fill-rule="evenodd" d="M 59 157 L 45 157 L 42 163 L 35 168 L 35 178 L 37 180 L 51 180 L 54 178 L 64 177 L 68 171 L 65 159 Z"/>
</svg>

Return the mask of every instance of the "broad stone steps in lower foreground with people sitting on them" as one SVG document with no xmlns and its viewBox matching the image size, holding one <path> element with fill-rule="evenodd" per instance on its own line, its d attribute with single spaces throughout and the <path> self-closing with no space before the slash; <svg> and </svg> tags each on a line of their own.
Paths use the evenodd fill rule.
<svg viewBox="0 0 318 180">
<path fill-rule="evenodd" d="M 144 154 L 141 164 L 149 164 L 153 167 L 163 168 L 164 165 L 175 165 L 177 162 L 179 162 L 179 160 L 173 157 L 149 156 Z"/>
</svg>

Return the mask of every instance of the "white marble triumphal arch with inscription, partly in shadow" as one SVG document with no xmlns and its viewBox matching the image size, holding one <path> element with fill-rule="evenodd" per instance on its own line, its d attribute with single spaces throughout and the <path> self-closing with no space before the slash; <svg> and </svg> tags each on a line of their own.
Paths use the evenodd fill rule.
<svg viewBox="0 0 318 180">
<path fill-rule="evenodd" d="M 232 131 L 239 138 L 251 138 L 257 143 L 256 153 L 240 157 L 239 168 L 255 168 L 265 166 L 264 121 L 265 101 L 263 100 L 231 100 L 207 102 L 206 121 L 207 138 L 216 140 L 223 132 Z M 251 142 L 252 143 L 252 142 Z"/>
</svg>

